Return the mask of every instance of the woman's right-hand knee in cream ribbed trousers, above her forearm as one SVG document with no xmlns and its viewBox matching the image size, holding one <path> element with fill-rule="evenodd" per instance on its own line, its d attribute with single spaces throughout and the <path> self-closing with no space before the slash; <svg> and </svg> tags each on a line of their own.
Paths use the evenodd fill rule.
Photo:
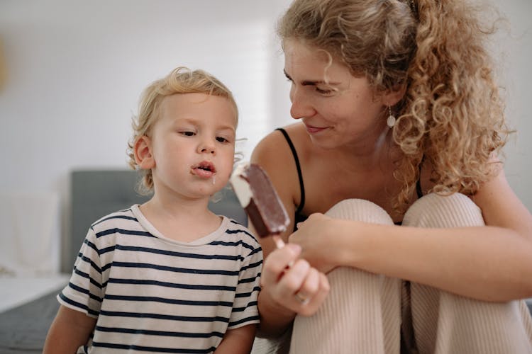
<svg viewBox="0 0 532 354">
<path fill-rule="evenodd" d="M 484 226 L 482 210 L 462 193 L 437 195 L 431 193 L 416 200 L 406 211 L 404 226 L 470 227 Z"/>
</svg>

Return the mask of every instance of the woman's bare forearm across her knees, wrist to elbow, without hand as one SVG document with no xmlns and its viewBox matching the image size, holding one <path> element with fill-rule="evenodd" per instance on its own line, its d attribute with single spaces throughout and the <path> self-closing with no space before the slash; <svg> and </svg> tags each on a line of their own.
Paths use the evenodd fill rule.
<svg viewBox="0 0 532 354">
<path fill-rule="evenodd" d="M 352 223 L 336 229 L 337 265 L 485 301 L 532 297 L 532 242 L 511 229 Z"/>
</svg>

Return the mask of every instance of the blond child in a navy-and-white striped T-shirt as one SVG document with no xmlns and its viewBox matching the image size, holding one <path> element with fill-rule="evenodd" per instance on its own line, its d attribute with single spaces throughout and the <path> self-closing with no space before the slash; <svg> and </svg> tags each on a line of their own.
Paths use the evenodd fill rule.
<svg viewBox="0 0 532 354">
<path fill-rule="evenodd" d="M 174 69 L 140 101 L 130 164 L 153 198 L 99 219 L 45 353 L 249 353 L 262 250 L 208 208 L 228 182 L 238 110 L 213 76 Z"/>
</svg>

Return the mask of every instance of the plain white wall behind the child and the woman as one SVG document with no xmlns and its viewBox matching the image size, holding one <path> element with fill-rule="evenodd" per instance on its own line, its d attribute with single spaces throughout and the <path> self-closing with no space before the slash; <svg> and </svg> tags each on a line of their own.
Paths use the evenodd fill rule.
<svg viewBox="0 0 532 354">
<path fill-rule="evenodd" d="M 240 146 L 290 122 L 273 31 L 289 0 L 0 0 L 8 81 L 0 92 L 0 191 L 52 191 L 67 215 L 68 174 L 126 167 L 140 91 L 177 65 L 206 69 L 235 93 Z M 532 1 L 501 5 L 511 31 L 494 45 L 511 125 L 509 181 L 532 210 Z M 63 217 L 65 229 L 66 217 Z"/>
</svg>

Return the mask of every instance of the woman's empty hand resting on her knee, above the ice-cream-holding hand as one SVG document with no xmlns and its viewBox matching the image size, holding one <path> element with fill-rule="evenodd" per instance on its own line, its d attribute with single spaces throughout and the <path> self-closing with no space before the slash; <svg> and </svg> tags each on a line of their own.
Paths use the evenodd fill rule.
<svg viewBox="0 0 532 354">
<path fill-rule="evenodd" d="M 290 243 L 301 246 L 299 256 L 322 273 L 328 273 L 340 265 L 338 256 L 341 249 L 336 244 L 338 239 L 330 235 L 331 230 L 339 226 L 333 225 L 335 222 L 339 223 L 340 220 L 315 213 L 297 224 L 297 231 L 289 237 Z"/>
</svg>

